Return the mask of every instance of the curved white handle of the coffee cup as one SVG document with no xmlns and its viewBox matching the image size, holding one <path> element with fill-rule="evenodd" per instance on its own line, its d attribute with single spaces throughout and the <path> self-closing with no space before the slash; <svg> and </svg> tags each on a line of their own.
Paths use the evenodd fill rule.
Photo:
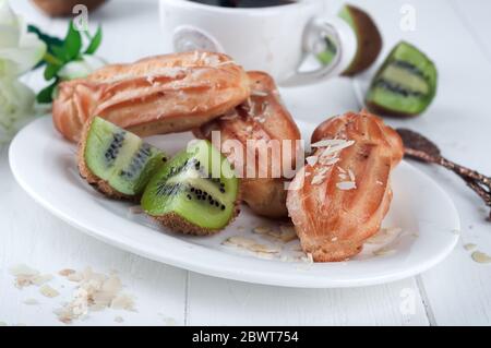
<svg viewBox="0 0 491 348">
<path fill-rule="evenodd" d="M 300 65 L 309 55 L 318 55 L 327 48 L 328 38 L 336 50 L 331 63 L 313 71 L 300 71 Z M 303 59 L 297 71 L 287 77 L 283 86 L 298 86 L 318 83 L 339 75 L 355 58 L 357 38 L 351 27 L 340 19 L 313 19 L 303 35 Z"/>
</svg>

